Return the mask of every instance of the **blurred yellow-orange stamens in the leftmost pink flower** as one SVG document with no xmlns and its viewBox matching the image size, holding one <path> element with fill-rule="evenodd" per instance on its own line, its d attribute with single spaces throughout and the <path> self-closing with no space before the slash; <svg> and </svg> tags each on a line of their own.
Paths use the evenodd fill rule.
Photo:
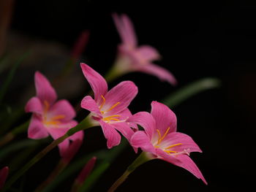
<svg viewBox="0 0 256 192">
<path fill-rule="evenodd" d="M 48 101 L 44 101 L 44 112 L 42 115 L 42 122 L 45 124 L 45 126 L 58 126 L 61 123 L 61 119 L 65 118 L 65 115 L 55 115 L 53 117 L 49 117 L 48 111 L 50 109 L 50 104 Z"/>
</svg>

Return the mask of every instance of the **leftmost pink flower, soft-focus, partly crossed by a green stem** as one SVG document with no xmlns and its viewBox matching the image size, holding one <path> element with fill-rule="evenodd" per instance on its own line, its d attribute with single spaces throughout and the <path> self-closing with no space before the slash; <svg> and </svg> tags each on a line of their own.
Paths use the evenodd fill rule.
<svg viewBox="0 0 256 192">
<path fill-rule="evenodd" d="M 69 128 L 78 124 L 73 120 L 75 110 L 67 100 L 56 101 L 56 91 L 41 73 L 35 73 L 34 81 L 37 96 L 32 97 L 25 107 L 26 112 L 33 113 L 28 137 L 30 139 L 42 139 L 50 134 L 53 139 L 58 139 L 66 134 Z M 73 141 L 75 139 L 83 140 L 83 131 L 79 131 L 59 144 L 61 156 L 69 147 L 69 139 Z"/>
</svg>

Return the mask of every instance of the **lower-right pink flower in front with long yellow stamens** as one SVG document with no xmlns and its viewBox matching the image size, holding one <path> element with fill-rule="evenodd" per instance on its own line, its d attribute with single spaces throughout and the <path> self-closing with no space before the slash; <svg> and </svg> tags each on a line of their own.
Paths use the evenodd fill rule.
<svg viewBox="0 0 256 192">
<path fill-rule="evenodd" d="M 150 158 L 181 166 L 206 183 L 203 174 L 189 158 L 189 153 L 202 151 L 187 134 L 176 132 L 176 115 L 165 104 L 153 101 L 151 114 L 138 112 L 128 121 L 138 123 L 145 130 L 132 136 L 130 143 L 133 147 L 140 147 Z"/>
</svg>

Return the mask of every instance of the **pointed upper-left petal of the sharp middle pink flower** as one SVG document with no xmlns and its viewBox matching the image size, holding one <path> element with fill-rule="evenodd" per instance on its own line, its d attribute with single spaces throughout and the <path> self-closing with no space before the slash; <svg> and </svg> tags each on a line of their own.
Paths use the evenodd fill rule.
<svg viewBox="0 0 256 192">
<path fill-rule="evenodd" d="M 105 96 L 108 91 L 108 85 L 105 79 L 90 66 L 81 63 L 80 64 L 83 74 L 91 85 L 91 89 L 94 91 L 94 99 L 97 104 L 102 100 L 101 96 Z"/>
</svg>

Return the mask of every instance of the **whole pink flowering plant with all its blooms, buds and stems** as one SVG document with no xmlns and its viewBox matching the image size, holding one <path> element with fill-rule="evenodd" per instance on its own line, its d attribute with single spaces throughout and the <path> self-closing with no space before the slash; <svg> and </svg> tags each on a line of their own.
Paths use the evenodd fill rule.
<svg viewBox="0 0 256 192">
<path fill-rule="evenodd" d="M 167 161 L 184 168 L 207 185 L 202 174 L 203 170 L 201 172 L 189 156 L 192 152 L 202 153 L 202 150 L 192 137 L 177 131 L 176 115 L 170 110 L 170 107 L 200 90 L 217 87 L 217 80 L 212 80 L 208 87 L 203 84 L 203 88 L 195 88 L 195 86 L 200 87 L 201 85 L 197 82 L 197 84 L 188 85 L 187 88 L 181 88 L 181 91 L 176 94 L 176 97 L 178 95 L 179 98 L 177 103 L 175 103 L 177 99 L 172 100 L 172 97 L 167 97 L 162 102 L 152 99 L 150 113 L 143 111 L 132 114 L 129 110 L 130 104 L 136 96 L 141 97 L 140 86 L 137 82 L 124 80 L 109 88 L 110 83 L 112 86 L 112 82 L 117 77 L 128 72 L 145 72 L 162 81 L 169 82 L 170 86 L 176 85 L 177 80 L 167 69 L 153 64 L 153 61 L 161 58 L 156 48 L 149 45 L 138 45 L 134 26 L 127 15 L 113 14 L 113 21 L 121 37 L 121 44 L 118 45 L 116 61 L 105 77 L 102 77 L 94 69 L 93 64 L 80 62 L 80 55 L 89 41 L 89 31 L 83 31 L 78 41 L 75 42 L 75 47 L 69 58 L 72 60 L 72 64 L 67 62 L 68 68 L 66 66 L 64 72 L 56 75 L 56 78 L 61 78 L 51 82 L 41 72 L 34 73 L 36 93 L 35 95 L 31 94 L 30 99 L 28 98 L 26 104 L 23 104 L 25 117 L 29 115 L 28 120 L 11 131 L 3 131 L 4 133 L 1 135 L 0 150 L 4 151 L 5 147 L 15 141 L 20 146 L 26 142 L 25 146 L 28 148 L 28 151 L 24 150 L 23 154 L 15 156 L 17 162 L 21 161 L 20 164 L 16 161 L 4 161 L 2 164 L 0 159 L 1 167 L 4 167 L 0 170 L 0 188 L 3 188 L 3 191 L 15 188 L 16 181 L 20 180 L 20 177 L 28 170 L 32 172 L 31 167 L 34 164 L 40 164 L 41 159 L 55 148 L 59 148 L 59 151 L 53 155 L 54 159 L 48 161 L 53 170 L 49 173 L 48 169 L 42 170 L 43 175 L 46 172 L 48 176 L 37 183 L 35 191 L 49 191 L 50 189 L 59 191 L 56 186 L 64 182 L 64 175 L 72 177 L 75 172 L 78 177 L 72 178 L 74 182 L 70 185 L 71 191 L 89 191 L 97 179 L 109 167 L 113 167 L 110 164 L 127 146 L 132 147 L 134 154 L 140 153 L 140 155 L 113 185 L 109 183 L 108 191 L 116 191 L 116 188 L 124 183 L 128 175 L 138 166 L 153 159 Z M 66 69 L 75 68 L 77 63 L 80 66 L 76 75 L 82 76 L 83 81 L 88 83 L 87 91 L 89 92 L 76 96 L 77 100 L 58 100 L 57 92 L 59 90 L 53 88 L 56 85 L 54 82 L 63 80 L 69 72 Z M 154 87 L 151 90 L 154 91 Z M 143 102 L 143 100 L 140 101 Z M 77 114 L 79 118 L 76 117 Z M 87 129 L 96 131 L 96 128 L 99 127 L 102 134 L 97 134 L 97 139 L 105 138 L 106 145 L 102 146 L 101 150 L 88 153 L 86 149 L 94 146 L 87 141 L 95 135 L 93 135 L 93 131 L 90 132 Z M 20 137 L 26 137 L 26 141 L 22 142 Z M 122 137 L 125 139 L 121 139 Z M 27 145 L 28 142 L 31 145 Z M 37 148 L 38 146 L 41 148 L 40 150 Z M 38 151 L 33 157 L 31 152 L 36 150 Z M 116 166 L 116 169 L 119 168 Z M 78 174 L 78 172 L 80 173 Z M 146 177 L 151 177 L 151 175 Z M 113 180 L 115 179 L 113 178 Z"/>
</svg>

